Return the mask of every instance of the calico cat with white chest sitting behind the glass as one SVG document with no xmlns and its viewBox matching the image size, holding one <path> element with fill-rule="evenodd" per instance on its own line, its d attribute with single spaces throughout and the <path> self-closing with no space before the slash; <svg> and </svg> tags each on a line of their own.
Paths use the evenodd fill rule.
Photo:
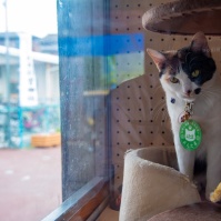
<svg viewBox="0 0 221 221">
<path fill-rule="evenodd" d="M 205 36 L 195 33 L 191 44 L 178 51 L 159 52 L 148 49 L 165 92 L 180 172 L 193 179 L 195 161 L 207 162 L 205 197 L 221 182 L 221 79 L 215 71 Z M 180 142 L 180 115 L 187 103 L 192 119 L 202 129 L 200 147 L 190 151 Z"/>
</svg>

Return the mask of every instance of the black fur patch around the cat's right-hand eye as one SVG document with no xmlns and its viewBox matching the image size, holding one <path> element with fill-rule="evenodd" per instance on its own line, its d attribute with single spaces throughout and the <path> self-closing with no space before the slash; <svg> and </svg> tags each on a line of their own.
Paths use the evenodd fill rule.
<svg viewBox="0 0 221 221">
<path fill-rule="evenodd" d="M 214 60 L 208 58 L 203 51 L 193 52 L 190 48 L 183 48 L 178 51 L 178 58 L 181 61 L 182 70 L 197 86 L 202 86 L 204 82 L 211 80 L 217 69 Z M 195 70 L 200 71 L 197 78 L 192 77 L 192 72 Z"/>
</svg>

